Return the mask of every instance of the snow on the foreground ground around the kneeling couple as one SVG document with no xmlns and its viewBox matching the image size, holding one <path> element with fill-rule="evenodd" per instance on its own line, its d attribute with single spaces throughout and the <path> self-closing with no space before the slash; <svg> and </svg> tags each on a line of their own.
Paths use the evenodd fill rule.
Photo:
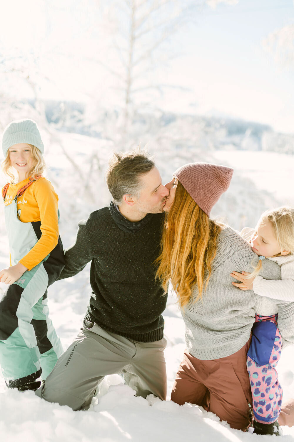
<svg viewBox="0 0 294 442">
<path fill-rule="evenodd" d="M 51 317 L 64 347 L 74 338 L 89 298 L 89 268 L 50 288 Z M 175 299 L 169 298 L 164 312 L 167 348 L 168 396 L 185 348 L 184 328 Z M 294 397 L 293 349 L 287 348 L 279 362 L 279 376 L 285 399 Z M 293 441 L 294 428 L 283 427 L 283 440 Z M 105 377 L 98 398 L 88 412 L 73 412 L 50 404 L 33 392 L 7 390 L 0 379 L 0 440 L 16 442 L 179 442 L 249 441 L 254 436 L 232 430 L 216 415 L 191 404 L 180 407 L 149 396 L 135 397 L 119 375 Z M 262 436 L 270 438 L 270 436 Z"/>
</svg>

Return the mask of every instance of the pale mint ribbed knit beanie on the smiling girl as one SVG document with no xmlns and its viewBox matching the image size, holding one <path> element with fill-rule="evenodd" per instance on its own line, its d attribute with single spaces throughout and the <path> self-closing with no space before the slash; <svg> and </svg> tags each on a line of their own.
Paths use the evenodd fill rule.
<svg viewBox="0 0 294 442">
<path fill-rule="evenodd" d="M 2 137 L 2 150 L 6 158 L 7 150 L 19 143 L 32 144 L 36 146 L 41 153 L 44 153 L 44 144 L 37 124 L 33 120 L 12 121 L 4 129 Z"/>
</svg>

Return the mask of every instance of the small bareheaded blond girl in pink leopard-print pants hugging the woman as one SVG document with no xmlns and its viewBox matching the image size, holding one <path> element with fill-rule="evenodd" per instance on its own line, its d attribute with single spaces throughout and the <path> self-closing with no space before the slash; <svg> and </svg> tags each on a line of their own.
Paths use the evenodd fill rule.
<svg viewBox="0 0 294 442">
<path fill-rule="evenodd" d="M 279 207 L 261 215 L 256 229 L 243 229 L 241 235 L 249 240 L 259 255 L 259 263 L 252 273 L 233 272 L 241 290 L 253 290 L 262 297 L 294 301 L 294 209 Z M 281 267 L 281 280 L 266 280 L 259 275 L 262 261 L 271 259 Z M 263 311 L 262 311 L 263 310 Z M 283 389 L 275 370 L 279 362 L 282 338 L 277 327 L 278 315 L 266 316 L 266 300 L 256 313 L 252 328 L 252 343 L 247 354 L 253 397 L 254 432 L 280 434 L 278 418 L 281 412 Z"/>
</svg>

